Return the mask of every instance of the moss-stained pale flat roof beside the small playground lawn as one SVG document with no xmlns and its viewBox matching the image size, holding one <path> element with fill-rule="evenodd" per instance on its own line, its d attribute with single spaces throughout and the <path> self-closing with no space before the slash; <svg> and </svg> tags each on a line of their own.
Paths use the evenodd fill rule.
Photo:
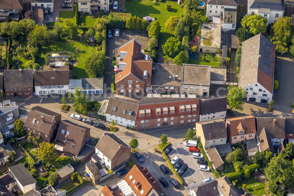
<svg viewBox="0 0 294 196">
<path fill-rule="evenodd" d="M 220 48 L 221 24 L 201 23 L 200 47 Z"/>
</svg>

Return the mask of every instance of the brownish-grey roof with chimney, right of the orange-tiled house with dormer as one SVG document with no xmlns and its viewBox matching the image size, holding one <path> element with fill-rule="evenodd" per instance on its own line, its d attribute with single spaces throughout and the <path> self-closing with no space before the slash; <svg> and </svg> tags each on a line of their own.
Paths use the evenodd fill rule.
<svg viewBox="0 0 294 196">
<path fill-rule="evenodd" d="M 273 120 L 276 124 L 273 125 Z M 257 117 L 257 136 L 260 135 L 263 128 L 266 129 L 271 139 L 285 138 L 285 118 Z"/>
</svg>

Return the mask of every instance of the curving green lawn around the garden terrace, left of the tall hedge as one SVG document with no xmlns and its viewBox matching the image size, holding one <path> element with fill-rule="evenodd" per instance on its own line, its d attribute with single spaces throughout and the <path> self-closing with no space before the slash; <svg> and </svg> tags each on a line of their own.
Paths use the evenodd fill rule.
<svg viewBox="0 0 294 196">
<path fill-rule="evenodd" d="M 76 46 L 79 46 L 81 52 L 75 52 Z M 64 41 L 58 42 L 56 44 L 42 46 L 42 49 L 39 50 L 38 60 L 40 60 L 40 65 L 44 65 L 44 57 L 47 52 L 61 52 L 69 51 L 76 54 L 78 65 L 74 67 L 74 73 L 77 74 L 76 79 L 87 78 L 88 74 L 85 72 L 84 64 L 86 59 L 88 59 L 94 52 L 96 48 L 89 46 L 86 41 Z"/>
</svg>

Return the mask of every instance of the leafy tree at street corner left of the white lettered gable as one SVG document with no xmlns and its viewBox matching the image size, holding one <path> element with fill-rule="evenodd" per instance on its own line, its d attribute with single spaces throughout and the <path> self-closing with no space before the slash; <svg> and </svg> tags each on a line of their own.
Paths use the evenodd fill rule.
<svg viewBox="0 0 294 196">
<path fill-rule="evenodd" d="M 238 88 L 236 86 L 228 87 L 227 101 L 228 105 L 231 109 L 238 109 L 243 111 L 244 102 L 242 102 L 242 98 L 245 97 L 245 91 L 242 88 Z"/>
</svg>

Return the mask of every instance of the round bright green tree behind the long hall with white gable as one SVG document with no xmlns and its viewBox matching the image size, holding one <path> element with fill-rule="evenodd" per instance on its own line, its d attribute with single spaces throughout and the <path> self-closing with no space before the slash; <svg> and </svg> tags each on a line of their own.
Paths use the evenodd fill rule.
<svg viewBox="0 0 294 196">
<path fill-rule="evenodd" d="M 266 31 L 266 18 L 260 15 L 247 15 L 242 19 L 241 26 L 247 29 L 253 35 L 258 33 L 265 33 Z"/>
</svg>

